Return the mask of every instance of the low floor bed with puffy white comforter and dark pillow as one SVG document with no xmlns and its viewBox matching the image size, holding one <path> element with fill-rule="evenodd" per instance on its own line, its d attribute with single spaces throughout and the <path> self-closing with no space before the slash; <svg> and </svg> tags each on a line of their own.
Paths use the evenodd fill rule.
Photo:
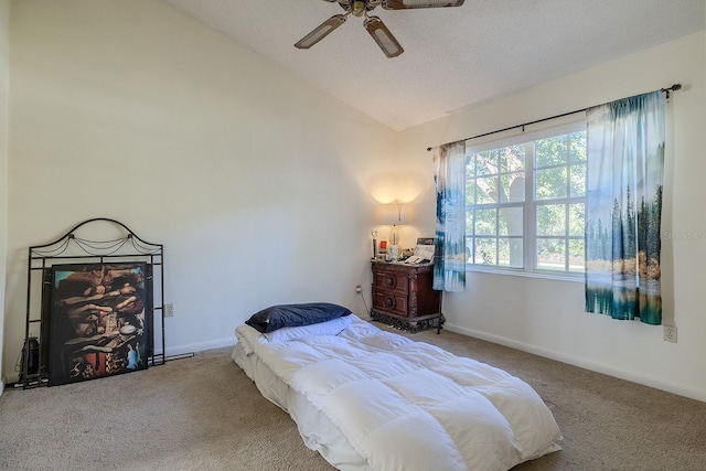
<svg viewBox="0 0 706 471">
<path fill-rule="evenodd" d="M 274 325 L 271 311 L 254 314 L 232 356 L 333 467 L 509 470 L 560 450 L 554 416 L 525 382 L 324 307 L 338 315 Z"/>
</svg>

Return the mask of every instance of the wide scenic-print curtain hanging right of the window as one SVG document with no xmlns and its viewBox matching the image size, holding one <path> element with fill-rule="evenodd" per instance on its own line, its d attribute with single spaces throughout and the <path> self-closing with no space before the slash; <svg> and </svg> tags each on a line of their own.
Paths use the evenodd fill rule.
<svg viewBox="0 0 706 471">
<path fill-rule="evenodd" d="M 662 323 L 664 97 L 588 110 L 586 311 Z"/>
</svg>

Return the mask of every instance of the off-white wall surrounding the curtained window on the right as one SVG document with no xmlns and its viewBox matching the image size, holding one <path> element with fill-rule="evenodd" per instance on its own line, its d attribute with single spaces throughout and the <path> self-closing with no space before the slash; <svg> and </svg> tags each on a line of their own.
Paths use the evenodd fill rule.
<svg viewBox="0 0 706 471">
<path fill-rule="evenodd" d="M 706 260 L 704 32 L 466 109 L 405 130 L 398 137 L 407 183 L 431 168 L 429 146 L 463 139 L 675 83 L 672 154 L 667 160 L 663 263 L 665 321 L 678 343 L 662 340 L 662 327 L 621 322 L 584 312 L 581 282 L 469 272 L 464 293 L 446 293 L 449 330 L 515 346 L 685 396 L 706 400 L 706 312 L 700 287 Z M 402 160 L 402 158 L 400 158 Z M 432 182 L 416 206 L 434 214 Z M 434 228 L 428 222 L 427 232 Z M 668 239 L 666 234 L 675 234 Z"/>
</svg>

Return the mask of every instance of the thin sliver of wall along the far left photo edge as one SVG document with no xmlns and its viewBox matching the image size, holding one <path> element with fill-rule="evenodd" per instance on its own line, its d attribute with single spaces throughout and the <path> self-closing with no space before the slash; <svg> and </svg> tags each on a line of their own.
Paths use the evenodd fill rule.
<svg viewBox="0 0 706 471">
<path fill-rule="evenodd" d="M 0 0 L 0 358 L 4 333 L 4 280 L 8 260 L 8 96 L 10 77 L 10 1 Z M 0 362 L 0 394 L 3 389 Z"/>
</svg>

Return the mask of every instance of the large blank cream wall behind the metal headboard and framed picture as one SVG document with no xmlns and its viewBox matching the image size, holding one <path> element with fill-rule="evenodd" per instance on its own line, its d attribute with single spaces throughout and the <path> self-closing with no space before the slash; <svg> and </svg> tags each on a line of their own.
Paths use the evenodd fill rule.
<svg viewBox="0 0 706 471">
<path fill-rule="evenodd" d="M 156 0 L 10 14 L 6 378 L 28 247 L 93 217 L 164 244 L 169 355 L 235 343 L 269 304 L 365 314 L 354 287 L 370 283 L 391 129 Z"/>
</svg>

